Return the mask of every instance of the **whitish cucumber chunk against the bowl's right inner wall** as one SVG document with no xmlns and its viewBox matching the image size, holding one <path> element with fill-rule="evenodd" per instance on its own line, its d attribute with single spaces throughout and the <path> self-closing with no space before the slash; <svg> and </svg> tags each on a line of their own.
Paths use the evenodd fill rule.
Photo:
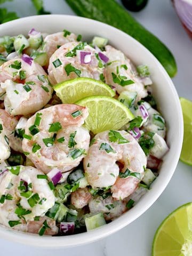
<svg viewBox="0 0 192 256">
<path fill-rule="evenodd" d="M 161 159 L 169 148 L 167 147 L 165 140 L 157 133 L 154 134 L 153 140 L 155 143 L 153 148 L 150 149 L 150 155 Z"/>
</svg>

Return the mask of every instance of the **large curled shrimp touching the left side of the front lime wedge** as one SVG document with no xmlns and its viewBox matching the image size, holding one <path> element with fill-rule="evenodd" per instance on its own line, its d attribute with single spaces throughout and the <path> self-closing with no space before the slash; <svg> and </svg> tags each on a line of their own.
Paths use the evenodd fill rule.
<svg viewBox="0 0 192 256">
<path fill-rule="evenodd" d="M 89 149 L 90 134 L 81 127 L 87 115 L 85 107 L 67 104 L 38 111 L 27 121 L 23 151 L 44 173 L 54 167 L 61 172 L 73 169 Z"/>
</svg>

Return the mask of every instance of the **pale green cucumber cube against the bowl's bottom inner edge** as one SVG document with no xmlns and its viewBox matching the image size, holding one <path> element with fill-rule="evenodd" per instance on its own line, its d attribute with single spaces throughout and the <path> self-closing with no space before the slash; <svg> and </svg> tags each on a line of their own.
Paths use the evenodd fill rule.
<svg viewBox="0 0 192 256">
<path fill-rule="evenodd" d="M 103 213 L 99 212 L 89 217 L 85 217 L 85 226 L 87 231 L 101 227 L 106 224 Z"/>
</svg>

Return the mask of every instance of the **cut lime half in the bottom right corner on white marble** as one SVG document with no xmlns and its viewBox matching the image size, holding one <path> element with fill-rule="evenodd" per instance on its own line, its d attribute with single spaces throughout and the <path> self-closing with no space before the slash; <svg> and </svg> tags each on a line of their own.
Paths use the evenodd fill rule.
<svg viewBox="0 0 192 256">
<path fill-rule="evenodd" d="M 153 241 L 153 256 L 192 255 L 192 203 L 180 206 L 159 226 Z"/>
</svg>

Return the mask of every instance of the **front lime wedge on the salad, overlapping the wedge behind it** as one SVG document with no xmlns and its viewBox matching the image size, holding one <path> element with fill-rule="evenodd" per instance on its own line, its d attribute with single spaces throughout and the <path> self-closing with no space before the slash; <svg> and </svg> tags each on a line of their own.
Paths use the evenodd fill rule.
<svg viewBox="0 0 192 256">
<path fill-rule="evenodd" d="M 93 96 L 75 103 L 88 108 L 89 116 L 85 125 L 94 134 L 110 129 L 119 130 L 134 118 L 129 108 L 114 98 Z"/>
</svg>

